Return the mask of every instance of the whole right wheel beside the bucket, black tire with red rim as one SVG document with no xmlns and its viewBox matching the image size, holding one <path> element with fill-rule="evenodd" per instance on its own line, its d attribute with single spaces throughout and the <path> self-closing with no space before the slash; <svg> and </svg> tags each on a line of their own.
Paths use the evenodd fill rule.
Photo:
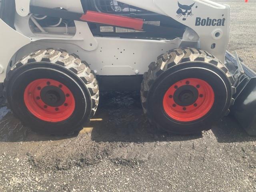
<svg viewBox="0 0 256 192">
<path fill-rule="evenodd" d="M 142 107 L 157 128 L 198 133 L 229 113 L 233 83 L 228 69 L 212 54 L 195 48 L 172 50 L 144 74 Z"/>
</svg>

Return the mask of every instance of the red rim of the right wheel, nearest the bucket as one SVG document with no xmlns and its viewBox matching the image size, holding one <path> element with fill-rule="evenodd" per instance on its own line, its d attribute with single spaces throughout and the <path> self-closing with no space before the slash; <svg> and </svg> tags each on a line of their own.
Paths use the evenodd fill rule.
<svg viewBox="0 0 256 192">
<path fill-rule="evenodd" d="M 193 99 L 190 99 L 189 105 L 180 105 L 180 98 L 184 96 L 177 96 L 177 92 L 180 89 L 186 90 L 185 86 L 189 86 L 193 90 L 197 90 L 197 95 Z M 189 93 L 189 94 L 188 94 Z M 190 96 L 191 93 L 188 91 L 185 96 Z M 176 97 L 174 97 L 176 96 Z M 177 99 L 178 98 L 178 99 Z M 175 100 L 176 99 L 176 100 Z M 167 90 L 163 99 L 163 106 L 166 114 L 170 118 L 180 122 L 190 122 L 198 120 L 205 116 L 214 104 L 214 91 L 212 87 L 204 80 L 197 78 L 188 78 L 176 82 Z"/>
</svg>

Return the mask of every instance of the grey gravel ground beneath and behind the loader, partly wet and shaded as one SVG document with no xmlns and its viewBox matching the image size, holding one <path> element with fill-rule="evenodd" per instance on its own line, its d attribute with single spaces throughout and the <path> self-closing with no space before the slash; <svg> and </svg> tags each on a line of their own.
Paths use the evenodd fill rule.
<svg viewBox="0 0 256 192">
<path fill-rule="evenodd" d="M 256 1 L 228 1 L 231 38 L 256 70 Z M 253 192 L 256 138 L 232 117 L 200 135 L 155 132 L 136 93 L 106 93 L 78 136 L 38 135 L 0 100 L 1 192 Z M 92 133 L 86 130 L 93 128 Z"/>
</svg>

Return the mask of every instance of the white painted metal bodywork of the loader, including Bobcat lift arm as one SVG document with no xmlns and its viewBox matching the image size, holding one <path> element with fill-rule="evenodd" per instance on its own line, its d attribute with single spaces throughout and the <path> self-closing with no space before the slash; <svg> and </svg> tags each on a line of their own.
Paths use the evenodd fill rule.
<svg viewBox="0 0 256 192">
<path fill-rule="evenodd" d="M 230 33 L 230 7 L 209 0 L 119 0 L 173 18 L 187 26 L 182 38 L 138 39 L 93 36 L 88 24 L 75 27 L 31 28 L 30 5 L 64 8 L 83 13 L 80 0 L 16 0 L 15 29 L 0 19 L 0 82 L 17 60 L 44 48 L 60 48 L 86 60 L 97 75 L 137 75 L 148 70 L 157 56 L 179 47 L 206 50 L 224 62 Z M 190 7 L 184 10 L 181 5 Z M 184 6 L 183 6 L 184 7 Z M 185 13 L 184 14 L 180 14 Z M 188 14 L 189 13 L 189 14 Z M 40 29 L 40 26 L 38 27 Z M 65 32 L 60 33 L 59 31 Z"/>
</svg>

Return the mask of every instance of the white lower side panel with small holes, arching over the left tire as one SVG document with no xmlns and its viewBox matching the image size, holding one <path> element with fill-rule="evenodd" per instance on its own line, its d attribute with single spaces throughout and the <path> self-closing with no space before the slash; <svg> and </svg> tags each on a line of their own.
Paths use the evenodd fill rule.
<svg viewBox="0 0 256 192">
<path fill-rule="evenodd" d="M 61 48 L 80 56 L 98 75 L 135 75 L 144 74 L 148 71 L 148 65 L 156 61 L 160 54 L 178 48 L 182 42 L 179 38 L 156 41 L 96 37 L 96 40 L 98 48 L 93 51 L 85 51 L 63 40 L 36 41 L 24 46 L 18 52 L 17 59 L 34 50 Z"/>
</svg>

